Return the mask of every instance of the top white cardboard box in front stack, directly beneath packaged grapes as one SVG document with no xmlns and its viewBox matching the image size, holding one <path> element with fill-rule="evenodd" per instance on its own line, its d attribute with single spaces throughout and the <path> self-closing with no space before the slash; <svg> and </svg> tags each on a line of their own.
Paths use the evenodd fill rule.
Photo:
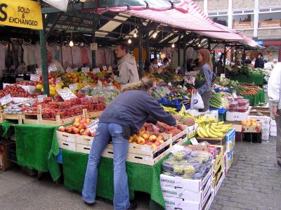
<svg viewBox="0 0 281 210">
<path fill-rule="evenodd" d="M 160 175 L 160 185 L 162 188 L 183 188 L 192 192 L 200 192 L 204 185 L 209 181 L 213 170 L 210 170 L 207 175 L 200 180 L 184 179 L 179 176 Z"/>
</svg>

